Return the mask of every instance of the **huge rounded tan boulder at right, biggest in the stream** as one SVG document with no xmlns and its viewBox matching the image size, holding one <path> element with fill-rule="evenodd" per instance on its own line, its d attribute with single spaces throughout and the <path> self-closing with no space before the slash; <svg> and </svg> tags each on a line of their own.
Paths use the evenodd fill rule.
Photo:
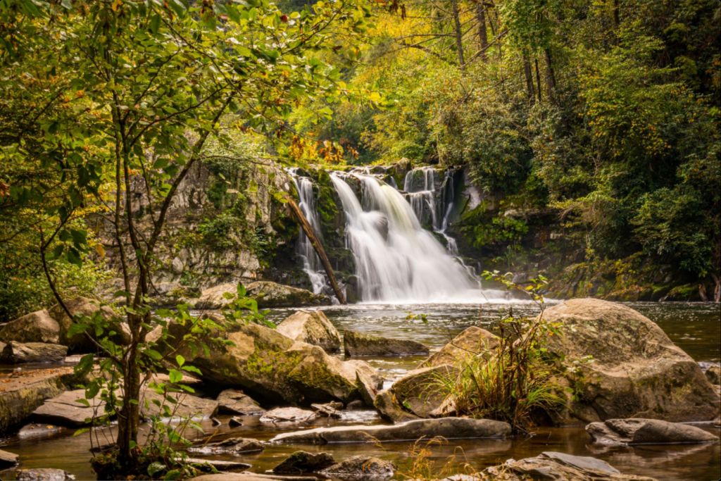
<svg viewBox="0 0 721 481">
<path fill-rule="evenodd" d="M 561 326 L 548 349 L 569 368 L 574 390 L 558 423 L 718 415 L 719 394 L 699 365 L 642 314 L 614 302 L 571 299 L 547 309 L 544 318 Z M 584 356 L 592 362 L 573 364 Z"/>
</svg>

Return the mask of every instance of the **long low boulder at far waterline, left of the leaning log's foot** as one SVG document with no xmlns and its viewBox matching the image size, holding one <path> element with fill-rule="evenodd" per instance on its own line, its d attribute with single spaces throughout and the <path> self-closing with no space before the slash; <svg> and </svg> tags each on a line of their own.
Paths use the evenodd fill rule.
<svg viewBox="0 0 721 481">
<path fill-rule="evenodd" d="M 313 294 L 311 291 L 270 281 L 256 281 L 249 283 L 246 294 L 257 301 L 261 309 L 269 307 L 304 307 L 330 304 L 328 296 Z M 223 309 L 230 304 L 226 293 L 235 295 L 238 291 L 236 283 L 224 283 L 209 287 L 200 293 L 195 301 L 195 309 Z"/>
</svg>

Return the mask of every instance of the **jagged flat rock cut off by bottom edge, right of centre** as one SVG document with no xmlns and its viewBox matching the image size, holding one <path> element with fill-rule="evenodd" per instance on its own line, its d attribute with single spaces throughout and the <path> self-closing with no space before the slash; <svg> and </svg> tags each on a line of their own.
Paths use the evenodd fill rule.
<svg viewBox="0 0 721 481">
<path fill-rule="evenodd" d="M 623 475 L 618 469 L 601 459 L 589 456 L 545 451 L 526 459 L 508 459 L 503 464 L 484 469 L 480 480 L 558 480 L 558 481 L 655 481 L 650 477 Z"/>
</svg>

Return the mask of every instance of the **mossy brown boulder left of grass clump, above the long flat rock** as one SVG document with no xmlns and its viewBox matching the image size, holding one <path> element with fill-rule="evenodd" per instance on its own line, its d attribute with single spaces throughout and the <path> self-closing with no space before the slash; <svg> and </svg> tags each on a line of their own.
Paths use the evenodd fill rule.
<svg viewBox="0 0 721 481">
<path fill-rule="evenodd" d="M 394 406 L 389 410 L 386 399 L 376 399 L 376 406 L 381 416 L 393 421 L 399 420 L 398 410 L 419 418 L 429 418 L 443 404 L 448 394 L 448 382 L 457 375 L 458 369 L 447 364 L 409 371 L 389 389 Z"/>
</svg>

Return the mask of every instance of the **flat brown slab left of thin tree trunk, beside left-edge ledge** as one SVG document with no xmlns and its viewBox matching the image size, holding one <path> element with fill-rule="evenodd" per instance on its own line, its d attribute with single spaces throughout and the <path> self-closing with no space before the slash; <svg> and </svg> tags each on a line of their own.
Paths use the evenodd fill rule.
<svg viewBox="0 0 721 481">
<path fill-rule="evenodd" d="M 88 400 L 89 406 L 79 402 L 84 399 L 84 389 L 66 391 L 46 400 L 32 412 L 35 423 L 46 423 L 68 427 L 81 427 L 91 423 L 94 415 L 102 415 L 105 402 L 98 398 Z"/>
</svg>

